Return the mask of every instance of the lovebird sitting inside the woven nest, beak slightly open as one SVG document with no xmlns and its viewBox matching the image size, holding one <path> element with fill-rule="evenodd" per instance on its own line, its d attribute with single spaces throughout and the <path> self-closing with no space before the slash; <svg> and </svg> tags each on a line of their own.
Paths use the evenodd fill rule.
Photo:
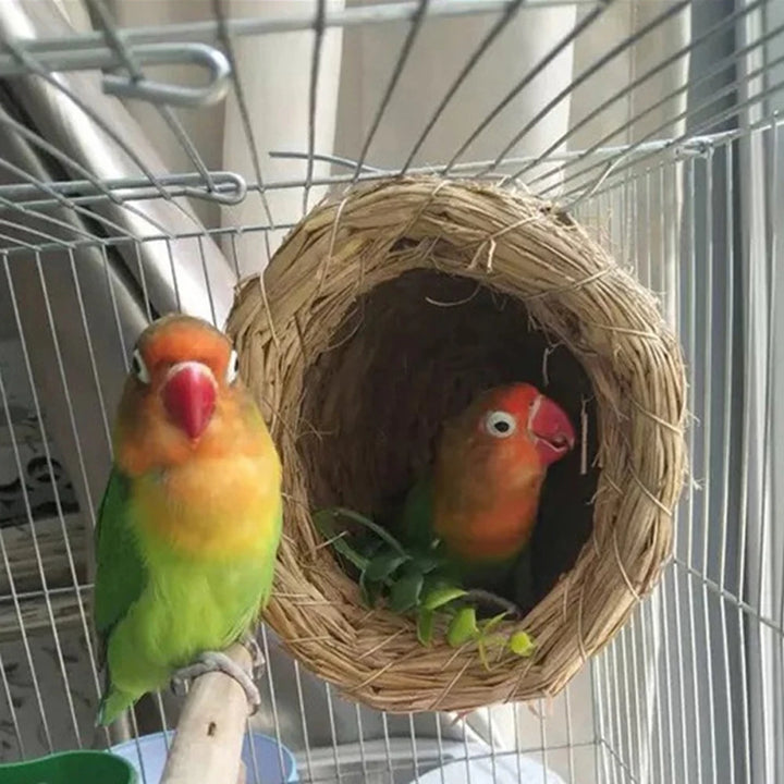
<svg viewBox="0 0 784 784">
<path fill-rule="evenodd" d="M 574 444 L 565 412 L 536 387 L 488 390 L 444 424 L 432 471 L 403 504 L 401 540 L 418 549 L 440 542 L 463 587 L 493 591 L 510 579 L 528 584 L 529 565 L 520 571 L 519 562 L 547 470 Z M 529 593 L 530 585 L 517 585 L 514 592 L 520 591 Z"/>
</svg>

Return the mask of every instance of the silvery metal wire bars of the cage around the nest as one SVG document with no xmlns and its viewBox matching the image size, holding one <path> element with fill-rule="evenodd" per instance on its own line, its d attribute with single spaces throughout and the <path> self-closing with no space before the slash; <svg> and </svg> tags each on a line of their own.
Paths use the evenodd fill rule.
<svg viewBox="0 0 784 784">
<path fill-rule="evenodd" d="M 414 781 L 454 759 L 486 760 L 493 781 L 501 781 L 501 767 L 511 761 L 512 770 L 524 781 L 520 755 L 539 759 L 563 781 L 580 784 L 666 780 L 734 784 L 775 781 L 776 775 L 782 775 L 782 746 L 776 746 L 776 740 L 784 727 L 784 707 L 779 696 L 784 683 L 784 564 L 774 551 L 770 499 L 775 489 L 772 455 L 776 420 L 772 412 L 777 388 L 773 357 L 780 319 L 774 282 L 780 252 L 775 217 L 781 216 L 784 181 L 780 174 L 781 119 L 774 107 L 781 106 L 784 60 L 769 52 L 771 45 L 781 47 L 784 24 L 775 22 L 781 14 L 775 16 L 773 0 L 737 3 L 712 24 L 693 29 L 684 46 L 662 52 L 644 73 L 630 76 L 608 97 L 601 96 L 593 109 L 571 122 L 543 151 L 523 156 L 512 152 L 516 142 L 547 118 L 560 100 L 571 98 L 614 57 L 630 51 L 676 14 L 695 13 L 705 4 L 701 0 L 642 3 L 654 8 L 650 21 L 575 73 L 563 90 L 549 98 L 493 157 L 460 160 L 504 108 L 525 94 L 537 69 L 541 72 L 571 44 L 590 34 L 592 25 L 614 3 L 578 0 L 572 4 L 583 15 L 567 35 L 481 118 L 455 150 L 444 150 L 442 159 L 428 164 L 415 163 L 417 154 L 456 100 L 461 87 L 482 62 L 493 57 L 493 47 L 509 25 L 530 9 L 554 10 L 569 3 L 418 0 L 335 9 L 319 0 L 309 4 L 307 12 L 292 16 L 254 17 L 233 15 L 228 3 L 216 2 L 211 16 L 203 21 L 128 28 L 118 24 L 101 2 L 90 0 L 95 25 L 91 33 L 63 35 L 58 30 L 21 36 L 3 27 L 0 77 L 37 74 L 40 81 L 70 97 L 88 122 L 101 127 L 127 156 L 123 160 L 132 163 L 125 167 L 131 172 L 127 175 L 102 176 L 60 145 L 50 128 L 37 128 L 19 112 L 17 117 L 5 109 L 0 112 L 0 125 L 25 139 L 47 163 L 35 172 L 14 163 L 11 155 L 0 156 L 0 168 L 16 177 L 0 185 L 2 285 L 10 306 L 4 319 L 22 350 L 22 377 L 33 399 L 33 430 L 42 446 L 48 475 L 56 474 L 54 463 L 62 460 L 74 486 L 79 487 L 83 506 L 78 514 L 66 513 L 62 491 L 54 482 L 54 513 L 41 519 L 23 481 L 25 523 L 17 528 L 0 528 L 0 701 L 8 708 L 10 724 L 2 734 L 7 738 L 3 758 L 7 754 L 9 758 L 25 758 L 94 743 L 90 711 L 99 681 L 90 644 L 91 584 L 85 564 L 95 519 L 96 477 L 90 475 L 82 449 L 98 440 L 108 454 L 112 417 L 108 400 L 112 394 L 110 390 L 105 393 L 103 388 L 111 372 L 119 376 L 127 369 L 134 329 L 161 309 L 181 306 L 181 286 L 186 283 L 207 292 L 204 313 L 220 321 L 219 314 L 224 309 L 221 303 L 229 295 L 218 294 L 217 290 L 213 294 L 213 257 L 205 243 L 223 247 L 234 278 L 242 271 L 237 244 L 243 238 L 257 238 L 268 259 L 270 235 L 296 222 L 295 218 L 275 219 L 270 195 L 301 191 L 304 213 L 314 204 L 315 188 L 427 172 L 480 176 L 503 185 L 529 187 L 563 201 L 603 238 L 622 264 L 633 267 L 644 284 L 670 298 L 665 315 L 677 326 L 684 345 L 689 365 L 688 405 L 694 414 L 688 436 L 693 480 L 678 509 L 672 563 L 659 588 L 638 607 L 615 640 L 587 664 L 587 684 L 568 686 L 550 705 L 530 706 L 538 714 L 534 722 L 527 720 L 525 708 L 487 709 L 475 718 L 476 728 L 462 722 L 455 725 L 455 732 L 450 726 L 451 716 L 433 714 L 432 733 L 426 735 L 421 722 L 417 724 L 413 715 L 397 721 L 358 706 L 346 708 L 329 684 L 306 684 L 309 675 L 296 661 L 275 658 L 274 641 L 262 628 L 262 649 L 270 662 L 264 676 L 270 714 L 265 730 L 283 744 L 294 745 L 292 738 L 299 738 L 298 768 L 303 781 L 310 782 Z M 409 56 L 420 42 L 419 35 L 426 25 L 449 19 L 489 19 L 491 24 L 474 48 L 466 49 L 463 65 L 432 112 L 419 119 L 421 130 L 407 155 L 394 167 L 377 166 L 373 138 L 391 111 L 402 75 L 411 68 Z M 406 22 L 408 29 L 355 155 L 345 158 L 319 150 L 315 128 L 324 36 L 330 29 L 394 22 Z M 628 113 L 608 131 L 597 132 L 589 144 L 563 150 L 564 144 L 590 127 L 602 112 L 659 78 L 667 66 L 739 28 L 746 38 L 736 35 L 728 53 L 707 62 L 695 79 Z M 234 46 L 241 39 L 262 45 L 268 37 L 306 30 L 313 32 L 307 144 L 301 150 L 262 149 L 255 130 L 261 121 L 254 120 L 245 99 L 243 85 L 248 75 L 243 72 Z M 187 49 L 186 45 L 199 48 Z M 211 81 L 205 89 L 194 91 L 168 84 L 162 93 L 145 91 L 150 83 L 159 84 L 148 78 L 150 66 L 183 60 L 209 70 Z M 114 86 L 110 89 L 138 96 L 155 107 L 188 161 L 187 170 L 150 168 L 134 148 L 128 148 L 121 130 L 79 98 L 69 75 L 98 68 L 113 71 L 110 75 Z M 666 113 L 658 126 L 624 140 L 652 112 L 684 97 L 687 90 L 711 85 L 727 74 L 721 87 L 705 99 Z M 210 169 L 181 117 L 185 107 L 209 103 L 224 94 L 238 103 L 250 150 L 249 177 Z M 3 97 L 8 96 L 3 93 Z M 3 105 L 8 106 L 5 100 Z M 677 123 L 683 131 L 671 133 Z M 748 163 L 749 149 L 768 150 L 770 155 L 765 181 L 758 187 L 740 184 L 739 170 Z M 262 176 L 261 161 L 268 156 L 304 160 L 305 173 Z M 333 166 L 332 173 L 316 173 L 316 163 L 323 161 Z M 663 198 L 678 188 L 683 191 L 681 206 L 677 199 Z M 253 223 L 224 220 L 203 225 L 183 197 L 195 199 L 193 204 L 220 204 L 226 210 L 246 199 L 258 199 L 265 218 Z M 756 199 L 761 211 L 750 218 L 742 199 Z M 172 206 L 182 222 L 173 228 L 171 215 L 161 219 L 146 209 L 159 203 Z M 723 232 L 721 221 L 725 223 Z M 677 259 L 671 281 L 665 280 L 653 258 L 648 236 L 653 228 L 658 229 L 660 253 Z M 752 232 L 758 232 L 761 240 Z M 723 241 L 718 247 L 720 236 Z M 194 243 L 191 258 L 199 267 L 191 281 L 183 278 L 187 277 L 186 265 L 177 257 L 183 242 Z M 755 245 L 755 253 L 762 258 L 755 267 L 754 274 L 761 275 L 758 280 L 749 277 L 744 243 L 762 245 L 761 249 Z M 154 270 L 149 265 L 146 254 L 156 247 L 163 248 L 157 258 L 166 261 L 166 273 L 163 268 Z M 13 273 L 20 262 L 35 271 L 33 280 L 39 286 L 40 303 L 32 305 L 25 297 L 27 289 L 20 291 Z M 100 296 L 95 285 L 87 287 L 83 270 L 88 264 L 101 270 L 105 290 Z M 76 302 L 78 320 L 68 332 L 57 311 L 58 299 L 65 292 L 48 283 L 54 265 L 68 271 L 59 282 L 70 282 Z M 139 289 L 132 317 L 126 316 L 124 299 L 128 275 Z M 168 290 L 158 293 L 156 290 L 167 279 Z M 216 297 L 220 302 L 216 303 Z M 35 319 L 25 313 L 29 307 L 38 308 Z M 100 334 L 94 329 L 98 311 Z M 720 340 L 715 339 L 715 329 L 720 329 Z M 52 343 L 46 356 L 54 360 L 52 378 L 63 395 L 60 406 L 52 405 L 57 396 L 39 381 L 40 368 L 35 365 L 41 351 L 38 332 Z M 763 336 L 763 346 L 757 355 L 752 346 L 759 335 Z M 73 379 L 68 372 L 66 352 L 74 341 L 87 353 L 96 392 L 99 421 L 91 427 L 75 407 L 78 401 L 71 391 Z M 113 367 L 101 356 L 107 343 L 113 345 Z M 759 377 L 765 384 L 761 403 L 751 400 L 749 390 L 750 379 Z M 8 369 L 0 365 L 0 424 L 8 430 L 12 460 L 23 477 L 24 444 L 17 438 L 9 382 L 4 379 Z M 47 382 L 50 384 L 51 378 Z M 761 411 L 755 407 L 758 405 Z M 60 445 L 63 432 L 65 443 L 73 444 L 73 454 L 68 456 Z M 53 448 L 58 449 L 57 455 Z M 734 559 L 727 554 L 733 550 L 731 544 Z M 84 648 L 69 637 L 74 629 Z M 46 649 L 52 645 L 50 654 Z M 647 659 L 651 651 L 656 651 L 652 663 Z M 48 656 L 51 665 L 44 665 Z M 289 690 L 283 685 L 285 667 L 291 669 L 289 679 L 293 682 Z M 321 735 L 327 736 L 326 743 L 310 742 L 314 727 L 324 721 L 318 710 L 309 709 L 313 688 L 319 688 L 324 699 L 327 726 Z M 33 693 L 33 699 L 20 702 L 19 694 L 25 690 Z M 576 723 L 575 707 L 588 707 L 590 726 Z M 171 703 L 159 698 L 156 710 L 160 725 L 172 728 Z M 342 727 L 348 719 L 356 724 L 354 743 L 342 742 Z M 296 732 L 293 724 L 298 725 Z M 509 733 L 510 725 L 513 743 L 500 737 L 504 728 Z M 134 727 L 131 736 L 137 734 L 138 727 Z M 109 742 L 107 734 L 102 743 Z M 441 781 L 449 781 L 449 775 L 442 771 Z M 248 780 L 260 781 L 257 765 L 248 771 Z"/>
</svg>

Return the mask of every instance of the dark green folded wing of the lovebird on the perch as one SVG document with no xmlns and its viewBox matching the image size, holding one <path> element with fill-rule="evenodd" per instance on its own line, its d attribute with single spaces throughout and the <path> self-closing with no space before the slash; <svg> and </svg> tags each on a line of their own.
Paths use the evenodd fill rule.
<svg viewBox="0 0 784 784">
<path fill-rule="evenodd" d="M 138 599 L 147 575 L 128 519 L 131 485 L 112 468 L 96 525 L 96 577 L 93 617 L 103 660 L 109 634 Z"/>
</svg>

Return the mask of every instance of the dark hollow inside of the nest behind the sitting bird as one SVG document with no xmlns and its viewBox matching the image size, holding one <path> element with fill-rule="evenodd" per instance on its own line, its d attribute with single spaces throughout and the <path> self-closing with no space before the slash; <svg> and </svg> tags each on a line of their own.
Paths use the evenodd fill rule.
<svg viewBox="0 0 784 784">
<path fill-rule="evenodd" d="M 515 381 L 556 401 L 578 436 L 542 490 L 531 540 L 540 601 L 591 532 L 598 469 L 584 455 L 597 454 L 593 394 L 577 359 L 519 299 L 473 279 L 416 269 L 377 285 L 307 369 L 298 453 L 311 509 L 378 515 L 431 464 L 445 419 Z"/>
</svg>

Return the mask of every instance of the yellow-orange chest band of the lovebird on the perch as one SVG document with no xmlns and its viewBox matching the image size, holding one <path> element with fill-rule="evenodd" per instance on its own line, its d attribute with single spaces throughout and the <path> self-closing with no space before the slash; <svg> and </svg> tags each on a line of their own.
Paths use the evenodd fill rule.
<svg viewBox="0 0 784 784">
<path fill-rule="evenodd" d="M 280 515 L 280 464 L 268 456 L 206 458 L 136 480 L 137 519 L 158 541 L 196 558 L 264 549 Z"/>
</svg>

